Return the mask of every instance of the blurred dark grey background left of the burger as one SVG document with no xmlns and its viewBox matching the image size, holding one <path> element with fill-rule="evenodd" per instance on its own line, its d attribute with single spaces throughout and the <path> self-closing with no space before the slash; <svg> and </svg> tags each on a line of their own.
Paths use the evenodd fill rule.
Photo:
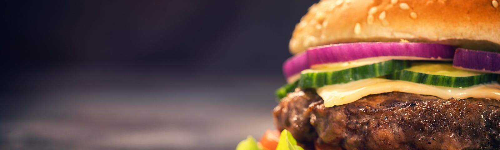
<svg viewBox="0 0 500 150">
<path fill-rule="evenodd" d="M 0 149 L 234 149 L 317 0 L 2 2 Z"/>
</svg>

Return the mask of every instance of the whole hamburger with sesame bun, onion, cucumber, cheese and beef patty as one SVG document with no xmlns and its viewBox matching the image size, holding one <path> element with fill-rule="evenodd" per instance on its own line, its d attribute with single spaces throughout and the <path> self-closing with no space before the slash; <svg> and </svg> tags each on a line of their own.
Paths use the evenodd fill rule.
<svg viewBox="0 0 500 150">
<path fill-rule="evenodd" d="M 295 26 L 277 131 L 256 148 L 500 149 L 498 5 L 320 0 Z"/>
</svg>

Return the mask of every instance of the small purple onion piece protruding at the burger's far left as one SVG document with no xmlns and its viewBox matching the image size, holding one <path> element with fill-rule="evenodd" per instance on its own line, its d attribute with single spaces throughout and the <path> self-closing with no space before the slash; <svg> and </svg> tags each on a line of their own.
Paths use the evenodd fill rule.
<svg viewBox="0 0 500 150">
<path fill-rule="evenodd" d="M 310 65 L 305 52 L 296 54 L 286 59 L 283 63 L 283 73 L 288 82 L 290 82 L 289 77 L 300 74 L 300 71 L 308 68 L 310 68 Z"/>
</svg>

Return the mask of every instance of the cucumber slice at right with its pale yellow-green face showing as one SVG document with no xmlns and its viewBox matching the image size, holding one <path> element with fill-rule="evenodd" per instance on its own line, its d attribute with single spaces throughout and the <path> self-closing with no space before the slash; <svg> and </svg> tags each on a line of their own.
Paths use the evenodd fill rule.
<svg viewBox="0 0 500 150">
<path fill-rule="evenodd" d="M 476 84 L 490 83 L 498 75 L 456 69 L 451 63 L 415 62 L 411 67 L 398 70 L 389 79 L 405 80 L 415 83 L 446 87 L 468 87 Z"/>
</svg>

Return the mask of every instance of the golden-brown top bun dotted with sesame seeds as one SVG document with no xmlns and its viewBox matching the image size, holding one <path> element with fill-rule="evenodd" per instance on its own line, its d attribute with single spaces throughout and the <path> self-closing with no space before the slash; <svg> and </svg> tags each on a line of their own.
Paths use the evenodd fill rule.
<svg viewBox="0 0 500 150">
<path fill-rule="evenodd" d="M 400 39 L 500 51 L 500 6 L 497 0 L 321 0 L 295 26 L 289 46 L 298 53 Z"/>
</svg>

